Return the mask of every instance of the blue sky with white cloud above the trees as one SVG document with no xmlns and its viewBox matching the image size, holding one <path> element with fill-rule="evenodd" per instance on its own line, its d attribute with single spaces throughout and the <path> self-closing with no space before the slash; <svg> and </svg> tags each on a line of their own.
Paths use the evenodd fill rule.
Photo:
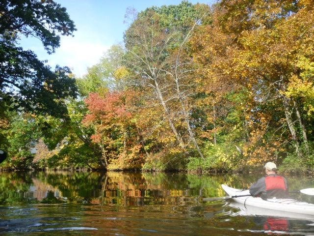
<svg viewBox="0 0 314 236">
<path fill-rule="evenodd" d="M 87 72 L 87 67 L 96 64 L 111 45 L 123 41 L 128 24 L 124 23 L 128 7 L 138 12 L 150 6 L 179 4 L 181 0 L 55 0 L 67 8 L 70 18 L 78 29 L 74 37 L 62 37 L 61 46 L 48 55 L 36 38 L 21 39 L 24 49 L 34 51 L 41 60 L 69 66 L 77 76 Z M 211 4 L 212 0 L 190 0 L 192 3 Z"/>
</svg>

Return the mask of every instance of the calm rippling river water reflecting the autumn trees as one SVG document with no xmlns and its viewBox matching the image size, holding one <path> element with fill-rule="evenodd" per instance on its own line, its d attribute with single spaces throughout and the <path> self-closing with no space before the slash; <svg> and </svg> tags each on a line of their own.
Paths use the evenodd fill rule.
<svg viewBox="0 0 314 236">
<path fill-rule="evenodd" d="M 0 173 L 0 235 L 258 236 L 314 235 L 313 219 L 262 216 L 225 196 L 226 183 L 246 188 L 259 176 L 164 173 Z M 288 177 L 290 189 L 314 187 Z M 314 198 L 294 194 L 314 203 Z"/>
</svg>

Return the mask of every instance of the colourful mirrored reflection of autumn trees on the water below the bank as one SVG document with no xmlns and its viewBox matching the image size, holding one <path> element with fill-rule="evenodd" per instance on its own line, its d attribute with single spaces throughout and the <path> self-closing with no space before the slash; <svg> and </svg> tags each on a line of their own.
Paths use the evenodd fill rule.
<svg viewBox="0 0 314 236">
<path fill-rule="evenodd" d="M 233 177 L 165 173 L 40 172 L 2 173 L 0 204 L 67 203 L 143 206 L 186 204 L 223 195 L 221 182 Z M 5 191 L 4 191 L 5 190 Z"/>
</svg>

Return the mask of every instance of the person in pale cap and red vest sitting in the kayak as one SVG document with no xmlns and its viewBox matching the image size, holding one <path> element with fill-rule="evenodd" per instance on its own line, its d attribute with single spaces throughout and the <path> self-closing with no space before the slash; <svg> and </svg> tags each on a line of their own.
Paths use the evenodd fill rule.
<svg viewBox="0 0 314 236">
<path fill-rule="evenodd" d="M 267 162 L 264 168 L 266 176 L 252 184 L 249 190 L 250 194 L 261 198 L 287 198 L 288 181 L 285 177 L 276 174 L 276 164 Z"/>
</svg>

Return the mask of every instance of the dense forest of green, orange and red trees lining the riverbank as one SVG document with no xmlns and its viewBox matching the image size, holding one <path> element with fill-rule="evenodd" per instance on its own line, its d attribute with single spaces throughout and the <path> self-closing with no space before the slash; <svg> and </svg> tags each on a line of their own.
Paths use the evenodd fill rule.
<svg viewBox="0 0 314 236">
<path fill-rule="evenodd" d="M 219 0 L 131 13 L 77 78 L 48 53 L 75 23 L 52 0 L 0 2 L 4 169 L 314 168 L 314 0 Z"/>
</svg>

